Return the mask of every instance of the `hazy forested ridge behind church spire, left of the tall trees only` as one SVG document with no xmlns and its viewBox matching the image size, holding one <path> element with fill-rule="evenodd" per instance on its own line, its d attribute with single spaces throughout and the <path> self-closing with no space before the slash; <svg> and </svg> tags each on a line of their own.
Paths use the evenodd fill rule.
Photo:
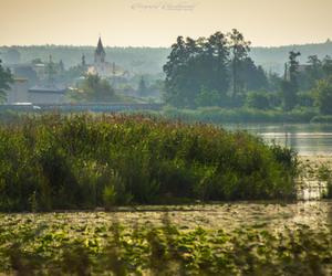
<svg viewBox="0 0 332 276">
<path fill-rule="evenodd" d="M 95 46 L 11 46 L 0 47 L 0 59 L 4 63 L 30 63 L 35 59 L 48 61 L 52 55 L 54 62 L 63 61 L 65 68 L 81 64 L 82 55 L 86 63 L 94 62 Z M 105 47 L 106 61 L 138 74 L 158 74 L 169 53 L 167 47 Z"/>
</svg>

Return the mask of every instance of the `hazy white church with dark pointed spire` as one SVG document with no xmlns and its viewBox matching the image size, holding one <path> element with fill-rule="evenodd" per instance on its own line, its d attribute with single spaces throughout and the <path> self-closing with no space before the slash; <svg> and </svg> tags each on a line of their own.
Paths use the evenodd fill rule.
<svg viewBox="0 0 332 276">
<path fill-rule="evenodd" d="M 103 78 L 128 76 L 128 72 L 122 70 L 114 62 L 106 62 L 106 52 L 101 38 L 98 40 L 96 50 L 94 51 L 94 64 L 87 67 L 87 74 L 97 74 Z"/>
</svg>

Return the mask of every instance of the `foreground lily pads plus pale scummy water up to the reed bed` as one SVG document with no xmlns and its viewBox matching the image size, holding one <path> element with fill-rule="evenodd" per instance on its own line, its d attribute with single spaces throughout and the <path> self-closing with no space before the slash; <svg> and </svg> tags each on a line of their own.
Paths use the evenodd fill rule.
<svg viewBox="0 0 332 276">
<path fill-rule="evenodd" d="M 331 204 L 2 214 L 0 273 L 331 275 Z"/>
</svg>

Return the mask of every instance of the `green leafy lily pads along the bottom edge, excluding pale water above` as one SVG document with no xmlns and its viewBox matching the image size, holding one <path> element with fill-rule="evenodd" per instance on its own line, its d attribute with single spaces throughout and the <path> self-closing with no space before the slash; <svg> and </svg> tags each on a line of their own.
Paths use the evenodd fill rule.
<svg viewBox="0 0 332 276">
<path fill-rule="evenodd" d="M 0 273 L 17 275 L 330 275 L 331 231 L 122 226 L 0 215 Z M 14 242 L 13 242 L 14 241 Z"/>
</svg>

